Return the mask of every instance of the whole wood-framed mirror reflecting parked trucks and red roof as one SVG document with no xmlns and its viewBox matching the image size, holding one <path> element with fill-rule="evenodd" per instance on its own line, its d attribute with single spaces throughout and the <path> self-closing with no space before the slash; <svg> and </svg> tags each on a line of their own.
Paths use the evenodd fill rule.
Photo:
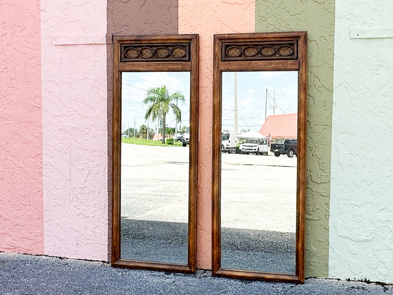
<svg viewBox="0 0 393 295">
<path fill-rule="evenodd" d="M 213 276 L 303 283 L 307 32 L 215 35 L 213 75 Z"/>
</svg>

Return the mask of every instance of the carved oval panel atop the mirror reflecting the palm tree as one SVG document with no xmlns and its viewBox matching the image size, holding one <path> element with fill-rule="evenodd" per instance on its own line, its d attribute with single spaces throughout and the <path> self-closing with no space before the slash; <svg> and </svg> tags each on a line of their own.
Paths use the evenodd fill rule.
<svg viewBox="0 0 393 295">
<path fill-rule="evenodd" d="M 121 62 L 189 61 L 189 43 L 121 44 Z"/>
</svg>

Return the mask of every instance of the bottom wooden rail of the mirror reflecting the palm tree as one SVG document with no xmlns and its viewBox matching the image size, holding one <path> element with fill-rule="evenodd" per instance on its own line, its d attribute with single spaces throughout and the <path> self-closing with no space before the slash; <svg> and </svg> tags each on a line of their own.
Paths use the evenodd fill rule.
<svg viewBox="0 0 393 295">
<path fill-rule="evenodd" d="M 154 261 L 139 261 L 139 260 L 128 260 L 119 259 L 115 263 L 112 263 L 115 268 L 132 268 L 136 270 L 156 270 L 156 271 L 167 271 L 167 272 L 181 272 L 184 274 L 195 274 L 195 270 L 184 264 L 178 263 L 161 263 Z"/>
</svg>

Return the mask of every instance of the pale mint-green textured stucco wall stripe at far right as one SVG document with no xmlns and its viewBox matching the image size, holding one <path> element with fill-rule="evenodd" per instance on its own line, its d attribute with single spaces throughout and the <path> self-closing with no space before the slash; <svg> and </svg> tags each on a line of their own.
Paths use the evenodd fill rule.
<svg viewBox="0 0 393 295">
<path fill-rule="evenodd" d="M 336 1 L 329 276 L 393 283 L 393 2 Z M 356 148 L 348 148 L 355 145 Z"/>
</svg>

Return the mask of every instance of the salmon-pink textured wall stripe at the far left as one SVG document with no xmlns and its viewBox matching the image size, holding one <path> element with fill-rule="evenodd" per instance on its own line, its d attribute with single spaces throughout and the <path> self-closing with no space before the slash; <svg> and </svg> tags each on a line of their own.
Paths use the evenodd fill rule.
<svg viewBox="0 0 393 295">
<path fill-rule="evenodd" d="M 0 3 L 0 251 L 43 253 L 40 1 Z"/>
</svg>

